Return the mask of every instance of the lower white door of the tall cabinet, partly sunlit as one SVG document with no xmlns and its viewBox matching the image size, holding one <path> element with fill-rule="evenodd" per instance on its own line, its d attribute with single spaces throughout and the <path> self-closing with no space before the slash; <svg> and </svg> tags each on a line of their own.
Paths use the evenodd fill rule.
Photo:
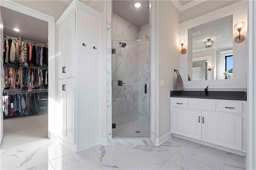
<svg viewBox="0 0 256 170">
<path fill-rule="evenodd" d="M 75 141 L 75 78 L 59 81 L 59 100 L 63 107 L 63 139 L 74 146 Z"/>
</svg>

